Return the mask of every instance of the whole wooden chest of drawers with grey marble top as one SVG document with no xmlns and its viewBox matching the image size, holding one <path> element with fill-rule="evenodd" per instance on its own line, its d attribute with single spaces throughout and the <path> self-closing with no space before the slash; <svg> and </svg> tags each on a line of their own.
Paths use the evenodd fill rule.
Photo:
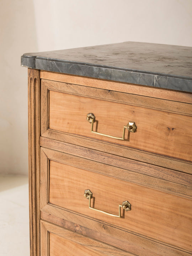
<svg viewBox="0 0 192 256">
<path fill-rule="evenodd" d="M 31 255 L 192 254 L 191 48 L 24 54 Z"/>
</svg>

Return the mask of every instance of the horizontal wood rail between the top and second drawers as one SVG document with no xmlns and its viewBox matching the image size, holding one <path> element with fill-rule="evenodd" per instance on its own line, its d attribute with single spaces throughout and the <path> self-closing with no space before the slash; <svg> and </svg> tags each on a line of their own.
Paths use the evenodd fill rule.
<svg viewBox="0 0 192 256">
<path fill-rule="evenodd" d="M 52 148 L 58 151 L 62 151 L 65 153 L 69 153 L 69 154 L 75 154 L 77 156 L 82 156 L 85 157 L 87 159 L 100 159 L 99 161 L 102 161 L 103 163 L 108 163 L 110 164 L 111 161 L 111 165 L 114 166 L 118 166 L 117 164 L 119 163 L 119 159 L 123 159 L 124 158 L 124 165 L 126 165 L 127 163 L 130 164 L 130 161 L 135 163 L 133 170 L 137 171 L 137 172 L 144 172 L 145 174 L 149 174 L 149 172 L 147 171 L 147 169 L 151 169 L 150 168 L 150 164 L 155 165 L 155 169 L 157 170 L 157 174 L 155 175 L 155 172 L 150 172 L 151 175 L 153 173 L 154 176 L 157 177 L 162 177 L 164 179 L 164 176 L 161 176 L 161 173 L 163 173 L 165 170 L 164 167 L 166 169 L 172 169 L 172 171 L 170 170 L 170 172 L 173 172 L 173 175 L 171 175 L 172 177 L 170 177 L 170 179 L 172 181 L 176 181 L 175 177 L 177 177 L 178 172 L 175 172 L 173 170 L 177 170 L 180 172 L 185 172 L 186 174 L 181 174 L 181 176 L 183 175 L 184 180 L 188 180 L 189 178 L 187 177 L 191 177 L 188 174 L 192 174 L 192 162 L 183 162 L 183 161 L 178 161 L 178 159 L 169 159 L 169 158 L 165 158 L 164 156 L 158 156 L 158 155 L 152 155 L 152 154 L 147 154 L 146 152 L 142 152 L 142 151 L 138 151 L 138 150 L 133 150 L 133 149 L 122 149 L 119 146 L 114 146 L 114 145 L 104 145 L 103 143 L 97 142 L 95 149 L 91 149 L 89 148 L 89 145 L 92 144 L 92 142 L 90 140 L 88 140 L 88 144 L 85 142 L 84 139 L 84 144 L 86 145 L 86 147 L 82 147 L 80 146 L 82 144 L 82 141 L 80 141 L 79 143 L 79 138 L 78 137 L 73 137 L 73 139 L 69 139 L 68 142 L 73 142 L 75 140 L 76 145 L 74 145 L 73 143 L 66 143 L 63 141 L 59 141 L 59 136 L 57 136 L 58 133 L 52 133 L 51 136 L 53 136 L 54 139 L 49 139 L 46 137 L 41 137 L 40 141 L 41 141 L 41 146 L 45 147 L 45 148 Z M 63 134 L 62 134 L 63 135 Z M 64 137 L 64 140 L 66 139 L 66 137 Z M 83 139 L 82 139 L 83 140 Z M 107 149 L 106 149 L 107 147 Z M 110 148 L 110 152 L 111 154 L 107 154 L 107 152 L 109 151 Z M 102 151 L 101 151 L 102 150 Z M 117 154 L 118 153 L 118 154 Z M 113 157 L 111 157 L 109 159 L 108 156 L 113 155 Z M 96 160 L 96 161 L 97 161 Z M 140 164 L 142 163 L 142 168 L 140 168 L 136 163 L 138 161 L 140 162 Z M 122 162 L 122 161 L 121 161 Z M 147 166 L 146 168 L 144 166 Z M 123 167 L 121 165 L 121 167 Z M 124 168 L 124 167 L 123 167 Z M 127 168 L 127 167 L 125 167 Z M 162 168 L 162 169 L 161 169 Z M 187 177 L 186 177 L 187 176 Z M 190 184 L 192 184 L 191 182 L 191 178 L 190 180 Z"/>
</svg>

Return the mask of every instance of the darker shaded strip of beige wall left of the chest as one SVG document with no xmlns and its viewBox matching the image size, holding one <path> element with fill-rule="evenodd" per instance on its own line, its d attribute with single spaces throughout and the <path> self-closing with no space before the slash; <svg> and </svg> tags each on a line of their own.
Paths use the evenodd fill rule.
<svg viewBox="0 0 192 256">
<path fill-rule="evenodd" d="M 27 69 L 23 53 L 37 51 L 31 0 L 1 1 L 0 174 L 27 174 Z"/>
</svg>

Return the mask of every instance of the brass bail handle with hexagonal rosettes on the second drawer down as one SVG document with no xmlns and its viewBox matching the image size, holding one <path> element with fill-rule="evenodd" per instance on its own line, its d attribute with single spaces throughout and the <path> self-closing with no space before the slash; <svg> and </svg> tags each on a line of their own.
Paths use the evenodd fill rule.
<svg viewBox="0 0 192 256">
<path fill-rule="evenodd" d="M 96 208 L 91 207 L 92 196 L 93 196 L 93 193 L 90 190 L 85 190 L 84 197 L 89 199 L 89 209 L 96 210 L 97 212 L 101 212 L 101 213 L 105 213 L 105 214 L 113 216 L 113 217 L 121 218 L 121 207 L 126 211 L 131 210 L 131 204 L 128 201 L 124 201 L 122 204 L 119 204 L 119 215 L 115 215 L 115 214 L 108 213 L 108 212 L 105 212 L 102 210 L 98 210 Z"/>
</svg>

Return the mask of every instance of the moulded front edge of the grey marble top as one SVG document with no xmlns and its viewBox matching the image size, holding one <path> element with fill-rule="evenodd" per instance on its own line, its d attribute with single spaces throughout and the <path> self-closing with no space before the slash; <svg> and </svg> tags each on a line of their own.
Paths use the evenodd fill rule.
<svg viewBox="0 0 192 256">
<path fill-rule="evenodd" d="M 192 92 L 192 78 L 61 59 L 21 56 L 21 66 L 98 79 Z"/>
</svg>

